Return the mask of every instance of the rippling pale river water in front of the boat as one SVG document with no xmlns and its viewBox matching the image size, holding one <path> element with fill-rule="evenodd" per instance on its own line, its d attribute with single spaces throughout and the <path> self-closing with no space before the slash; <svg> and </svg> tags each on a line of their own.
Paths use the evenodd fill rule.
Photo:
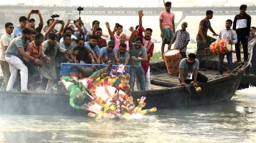
<svg viewBox="0 0 256 143">
<path fill-rule="evenodd" d="M 132 119 L 0 115 L 0 142 L 256 142 L 255 91 Z"/>
</svg>

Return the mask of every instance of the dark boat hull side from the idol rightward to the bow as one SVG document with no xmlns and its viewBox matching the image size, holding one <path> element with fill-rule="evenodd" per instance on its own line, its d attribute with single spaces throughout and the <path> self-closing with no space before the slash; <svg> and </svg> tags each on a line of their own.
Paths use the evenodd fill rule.
<svg viewBox="0 0 256 143">
<path fill-rule="evenodd" d="M 196 93 L 195 89 L 191 87 L 191 94 L 189 94 L 186 87 L 177 86 L 154 91 L 135 91 L 132 96 L 134 99 L 145 96 L 147 97 L 146 108 L 157 107 L 159 109 L 224 102 L 234 96 L 242 77 L 243 72 L 199 83 L 198 86 L 202 87 L 200 93 Z"/>
</svg>

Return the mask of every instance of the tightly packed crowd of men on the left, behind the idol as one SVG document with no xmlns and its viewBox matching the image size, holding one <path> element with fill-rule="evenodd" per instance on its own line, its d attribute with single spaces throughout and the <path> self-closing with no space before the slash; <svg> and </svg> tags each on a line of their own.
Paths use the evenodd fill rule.
<svg viewBox="0 0 256 143">
<path fill-rule="evenodd" d="M 35 19 L 30 19 L 33 13 L 40 19 L 37 27 Z M 131 36 L 122 33 L 120 24 L 111 31 L 106 22 L 111 39 L 108 42 L 98 20 L 92 22 L 92 29 L 87 29 L 81 19 L 68 20 L 66 24 L 49 19 L 44 27 L 40 10 L 31 10 L 28 17 L 19 18 L 17 27 L 6 22 L 6 32 L 0 40 L 6 91 L 42 91 L 42 81 L 46 80 L 44 90 L 51 93 L 60 80 L 61 63 L 124 64 L 125 69 L 129 65 L 131 89 L 134 89 L 136 78 L 140 90 L 150 89 L 149 60 L 154 50 L 152 29 L 143 27 L 143 11 L 138 13 L 140 23 L 136 29 L 130 28 Z M 59 30 L 55 29 L 56 24 L 61 25 Z"/>
</svg>

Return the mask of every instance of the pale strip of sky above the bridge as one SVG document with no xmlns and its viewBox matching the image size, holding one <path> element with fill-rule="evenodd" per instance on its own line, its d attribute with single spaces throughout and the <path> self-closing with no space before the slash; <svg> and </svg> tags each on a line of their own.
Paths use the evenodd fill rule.
<svg viewBox="0 0 256 143">
<path fill-rule="evenodd" d="M 52 4 L 68 4 L 70 6 L 112 6 L 112 7 L 159 7 L 163 6 L 163 0 L 67 0 L 68 2 L 64 2 L 63 0 L 11 0 L 6 3 L 6 0 L 0 0 L 0 4 L 17 4 L 24 3 L 26 5 L 52 5 Z M 165 0 L 166 1 L 166 0 Z M 223 6 L 223 3 L 226 3 L 226 6 L 239 6 L 242 3 L 245 4 L 255 4 L 255 0 L 172 0 L 172 6 L 212 6 L 218 5 Z"/>
</svg>

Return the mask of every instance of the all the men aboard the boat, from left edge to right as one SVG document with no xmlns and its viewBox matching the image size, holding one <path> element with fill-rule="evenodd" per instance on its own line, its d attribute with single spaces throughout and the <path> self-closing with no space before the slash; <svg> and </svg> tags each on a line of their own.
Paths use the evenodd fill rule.
<svg viewBox="0 0 256 143">
<path fill-rule="evenodd" d="M 164 46 L 168 44 L 168 49 L 179 49 L 184 58 L 180 62 L 180 84 L 186 86 L 192 80 L 196 82 L 207 82 L 207 77 L 197 72 L 200 63 L 200 50 L 209 47 L 215 38 L 207 35 L 208 29 L 214 36 L 219 36 L 211 27 L 210 19 L 213 12 L 207 10 L 206 17 L 200 22 L 198 34 L 196 35 L 197 53 L 186 56 L 186 49 L 190 37 L 186 27 L 187 22 L 182 22 L 181 29 L 175 31 L 175 15 L 170 9 L 171 2 L 164 3 L 165 10 L 160 13 L 159 27 L 161 37 L 162 56 Z M 230 44 L 236 44 L 237 61 L 241 62 L 239 43 L 241 41 L 244 50 L 244 62 L 248 61 L 248 38 L 255 37 L 256 28 L 250 30 L 251 17 L 245 13 L 246 5 L 240 6 L 240 13 L 234 19 L 226 21 L 226 29 L 220 32 L 220 38 L 226 39 Z M 39 24 L 36 27 L 35 19 L 30 19 L 31 14 L 39 16 Z M 4 75 L 6 91 L 29 92 L 41 91 L 42 80 L 47 80 L 46 93 L 52 92 L 52 87 L 60 80 L 61 63 L 88 63 L 88 64 L 124 64 L 131 68 L 129 85 L 134 89 L 134 82 L 137 79 L 137 87 L 140 90 L 150 89 L 150 57 L 153 55 L 154 43 L 151 41 L 152 29 L 144 28 L 142 17 L 143 11 L 138 11 L 139 24 L 131 27 L 131 35 L 123 32 L 123 26 L 116 23 L 113 30 L 106 22 L 106 28 L 110 36 L 110 41 L 106 41 L 106 33 L 102 32 L 100 22 L 94 20 L 92 29 L 86 28 L 83 20 L 68 20 L 65 24 L 62 20 L 47 20 L 47 26 L 40 13 L 40 10 L 31 10 L 28 17 L 19 18 L 19 26 L 13 27 L 12 22 L 6 22 L 5 30 L 0 40 L 0 64 Z M 60 24 L 60 29 L 55 27 Z M 251 33 L 250 33 L 251 31 Z M 13 33 L 13 38 L 11 34 Z M 255 53 L 255 50 L 253 50 Z M 254 54 L 255 55 L 255 54 Z M 196 57 L 198 58 L 196 59 Z M 219 57 L 219 73 L 223 74 L 223 57 Z M 256 75 L 255 57 L 253 57 L 253 71 Z M 232 63 L 232 53 L 227 54 L 228 66 L 234 69 Z M 191 66 L 192 65 L 192 66 Z M 192 68 L 191 68 L 192 67 Z M 200 76 L 198 76 L 200 75 Z M 17 84 L 17 77 L 20 77 L 20 85 Z M 197 79 L 197 80 L 196 80 Z M 190 82 L 186 82 L 186 80 Z"/>
</svg>

